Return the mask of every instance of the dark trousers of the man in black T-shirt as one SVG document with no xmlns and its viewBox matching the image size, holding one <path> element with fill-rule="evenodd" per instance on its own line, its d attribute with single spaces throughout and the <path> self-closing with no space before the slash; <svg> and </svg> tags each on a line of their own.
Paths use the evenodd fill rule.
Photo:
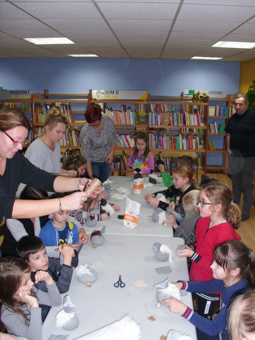
<svg viewBox="0 0 255 340">
<path fill-rule="evenodd" d="M 231 180 L 233 184 L 233 200 L 239 204 L 243 189 L 242 215 L 249 215 L 252 205 L 252 175 L 255 157 L 228 156 Z"/>
</svg>

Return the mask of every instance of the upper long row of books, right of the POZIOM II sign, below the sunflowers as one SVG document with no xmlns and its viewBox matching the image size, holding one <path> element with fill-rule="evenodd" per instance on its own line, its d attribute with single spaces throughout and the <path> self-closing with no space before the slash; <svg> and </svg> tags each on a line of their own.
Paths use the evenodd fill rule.
<svg viewBox="0 0 255 340">
<path fill-rule="evenodd" d="M 199 113 L 188 113 L 180 111 L 150 112 L 150 125 L 169 125 L 169 126 L 192 126 L 201 125 Z"/>
</svg>

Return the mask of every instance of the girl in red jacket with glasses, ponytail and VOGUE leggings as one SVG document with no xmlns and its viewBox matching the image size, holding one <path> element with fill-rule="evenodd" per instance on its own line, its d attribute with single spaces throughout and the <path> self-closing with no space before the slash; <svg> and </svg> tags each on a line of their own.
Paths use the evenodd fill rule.
<svg viewBox="0 0 255 340">
<path fill-rule="evenodd" d="M 201 219 L 197 223 L 196 242 L 177 254 L 177 257 L 191 257 L 192 265 L 189 278 L 192 281 L 209 281 L 212 277 L 210 265 L 214 260 L 213 250 L 216 245 L 240 240 L 234 229 L 241 222 L 241 211 L 233 203 L 232 192 L 220 182 L 212 182 L 202 187 L 198 198 Z M 198 314 L 211 319 L 218 305 L 218 292 L 197 294 Z"/>
</svg>

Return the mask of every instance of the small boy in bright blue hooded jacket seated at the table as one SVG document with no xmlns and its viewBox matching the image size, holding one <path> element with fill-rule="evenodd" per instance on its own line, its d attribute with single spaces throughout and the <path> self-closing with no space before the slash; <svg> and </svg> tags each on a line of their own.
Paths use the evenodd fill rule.
<svg viewBox="0 0 255 340">
<path fill-rule="evenodd" d="M 64 194 L 55 193 L 49 199 L 65 197 Z M 79 247 L 79 231 L 77 226 L 68 221 L 69 210 L 63 210 L 61 207 L 61 200 L 59 211 L 50 214 L 50 219 L 43 228 L 41 228 L 39 237 L 44 241 L 46 246 L 59 245 L 62 243 L 73 244 L 74 248 L 78 250 Z"/>
</svg>

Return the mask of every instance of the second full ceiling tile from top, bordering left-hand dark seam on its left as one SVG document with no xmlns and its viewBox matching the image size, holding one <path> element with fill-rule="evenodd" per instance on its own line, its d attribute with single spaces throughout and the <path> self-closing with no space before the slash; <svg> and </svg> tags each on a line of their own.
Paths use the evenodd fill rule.
<svg viewBox="0 0 255 340">
<path fill-rule="evenodd" d="M 104 19 L 43 19 L 55 30 L 107 30 Z"/>
</svg>

